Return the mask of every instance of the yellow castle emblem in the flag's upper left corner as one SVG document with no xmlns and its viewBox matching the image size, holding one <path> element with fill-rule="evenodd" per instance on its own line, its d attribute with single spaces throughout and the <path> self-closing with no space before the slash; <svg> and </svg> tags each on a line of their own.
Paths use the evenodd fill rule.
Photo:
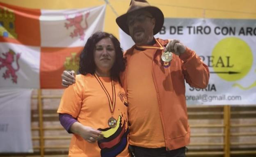
<svg viewBox="0 0 256 157">
<path fill-rule="evenodd" d="M 7 8 L 0 8 L 0 36 L 17 39 L 15 32 L 15 14 Z"/>
</svg>

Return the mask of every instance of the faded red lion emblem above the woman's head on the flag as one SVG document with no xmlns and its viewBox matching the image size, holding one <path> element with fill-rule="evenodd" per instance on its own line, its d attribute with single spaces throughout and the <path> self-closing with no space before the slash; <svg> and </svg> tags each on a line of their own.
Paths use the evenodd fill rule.
<svg viewBox="0 0 256 157">
<path fill-rule="evenodd" d="M 69 36 L 71 38 L 80 36 L 80 40 L 84 40 L 85 38 L 85 30 L 88 28 L 87 18 L 89 17 L 89 12 L 85 13 L 85 27 L 82 27 L 82 21 L 83 21 L 83 14 L 77 13 L 75 15 L 75 18 L 69 18 L 68 15 L 66 15 L 66 20 L 69 21 L 69 23 L 65 23 L 66 29 L 69 29 L 69 27 L 74 26 L 75 29 L 73 32 L 70 33 Z"/>
</svg>

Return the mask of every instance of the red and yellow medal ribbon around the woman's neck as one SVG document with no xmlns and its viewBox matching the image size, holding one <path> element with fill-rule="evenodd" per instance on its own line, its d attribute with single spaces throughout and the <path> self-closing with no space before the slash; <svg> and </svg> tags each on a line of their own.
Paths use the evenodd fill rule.
<svg viewBox="0 0 256 157">
<path fill-rule="evenodd" d="M 110 94 L 107 92 L 107 89 L 105 88 L 101 79 L 98 77 L 98 75 L 96 73 L 94 73 L 94 76 L 96 77 L 97 81 L 101 85 L 101 88 L 103 88 L 103 91 L 107 95 L 108 103 L 109 103 L 109 106 L 110 106 L 110 112 L 111 112 L 111 114 L 113 114 L 114 107 L 115 107 L 115 104 L 116 104 L 116 90 L 114 88 L 114 80 L 113 80 L 113 78 L 111 79 L 111 86 L 112 86 L 112 99 L 111 99 Z"/>
</svg>

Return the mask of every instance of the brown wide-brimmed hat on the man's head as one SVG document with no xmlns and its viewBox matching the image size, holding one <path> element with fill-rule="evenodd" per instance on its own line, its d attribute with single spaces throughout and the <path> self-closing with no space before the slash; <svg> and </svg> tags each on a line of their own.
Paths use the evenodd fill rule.
<svg viewBox="0 0 256 157">
<path fill-rule="evenodd" d="M 130 35 L 128 24 L 126 23 L 127 15 L 137 10 L 148 11 L 155 18 L 155 28 L 153 29 L 154 35 L 162 29 L 164 24 L 164 15 L 159 8 L 151 6 L 146 0 L 131 0 L 128 11 L 116 19 L 118 26 L 126 34 Z"/>
</svg>

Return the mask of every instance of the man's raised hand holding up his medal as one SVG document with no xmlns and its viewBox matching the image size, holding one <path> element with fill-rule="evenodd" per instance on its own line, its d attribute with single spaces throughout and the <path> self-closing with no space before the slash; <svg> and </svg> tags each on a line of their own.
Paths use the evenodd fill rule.
<svg viewBox="0 0 256 157">
<path fill-rule="evenodd" d="M 165 52 L 169 51 L 176 55 L 181 55 L 186 50 L 186 46 L 183 45 L 180 40 L 171 40 L 166 46 L 165 46 Z"/>
</svg>

